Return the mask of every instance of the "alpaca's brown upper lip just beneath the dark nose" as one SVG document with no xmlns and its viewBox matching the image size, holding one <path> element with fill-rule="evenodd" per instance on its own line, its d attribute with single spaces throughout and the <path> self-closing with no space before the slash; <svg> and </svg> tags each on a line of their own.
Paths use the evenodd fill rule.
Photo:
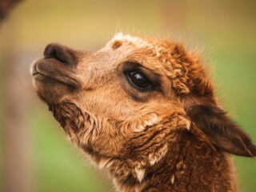
<svg viewBox="0 0 256 192">
<path fill-rule="evenodd" d="M 39 60 L 38 62 L 36 62 L 34 64 L 34 66 L 32 66 L 31 74 L 33 77 L 37 74 L 41 74 L 47 78 L 52 78 L 58 82 L 62 82 L 64 84 L 66 84 L 67 86 L 72 86 L 74 88 L 81 87 L 75 78 L 70 77 L 70 75 L 68 75 L 66 73 L 60 74 L 60 73 L 58 73 L 58 70 L 56 70 L 56 69 L 50 69 L 49 67 L 47 67 L 47 68 L 40 67 L 39 65 L 40 65 L 40 63 L 42 63 L 41 61 L 42 60 Z M 42 64 L 42 65 L 45 65 L 45 64 Z M 45 69 L 47 69 L 47 70 L 45 70 Z"/>
</svg>

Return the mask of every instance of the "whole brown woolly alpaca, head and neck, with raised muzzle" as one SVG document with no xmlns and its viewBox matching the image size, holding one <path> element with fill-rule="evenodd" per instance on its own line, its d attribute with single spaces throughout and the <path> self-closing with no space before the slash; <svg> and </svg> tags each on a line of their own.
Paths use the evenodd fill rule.
<svg viewBox="0 0 256 192">
<path fill-rule="evenodd" d="M 230 154 L 256 156 L 204 60 L 181 42 L 119 33 L 97 52 L 51 43 L 31 74 L 67 137 L 118 191 L 238 191 Z"/>
</svg>

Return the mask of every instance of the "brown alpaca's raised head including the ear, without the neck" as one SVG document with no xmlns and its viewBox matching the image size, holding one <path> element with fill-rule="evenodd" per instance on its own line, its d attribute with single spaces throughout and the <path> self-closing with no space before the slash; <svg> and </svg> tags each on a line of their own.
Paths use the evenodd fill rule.
<svg viewBox="0 0 256 192">
<path fill-rule="evenodd" d="M 218 106 L 199 54 L 179 42 L 117 34 L 97 52 L 52 43 L 31 73 L 67 136 L 92 156 L 146 153 L 144 162 L 154 164 L 171 149 L 166 135 L 191 127 L 216 149 L 256 156 L 250 138 Z M 139 154 L 130 150 L 147 145 Z"/>
</svg>

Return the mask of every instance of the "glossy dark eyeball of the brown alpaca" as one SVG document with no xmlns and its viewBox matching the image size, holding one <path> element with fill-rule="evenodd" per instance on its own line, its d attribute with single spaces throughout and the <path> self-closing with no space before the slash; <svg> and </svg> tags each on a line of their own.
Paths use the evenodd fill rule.
<svg viewBox="0 0 256 192">
<path fill-rule="evenodd" d="M 126 74 L 130 82 L 138 88 L 138 90 L 148 90 L 152 84 L 141 72 L 132 71 Z"/>
</svg>

